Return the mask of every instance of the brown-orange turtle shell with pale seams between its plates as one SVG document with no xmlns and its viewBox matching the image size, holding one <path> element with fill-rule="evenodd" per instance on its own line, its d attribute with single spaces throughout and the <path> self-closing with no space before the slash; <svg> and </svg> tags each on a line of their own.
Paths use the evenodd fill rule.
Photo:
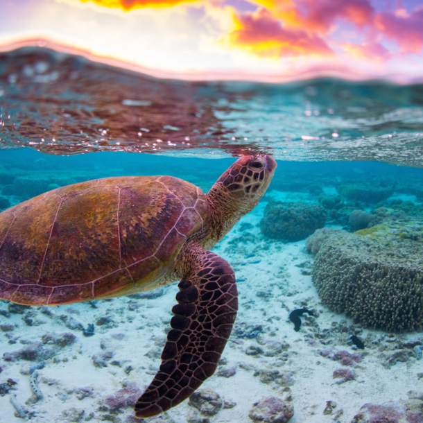
<svg viewBox="0 0 423 423">
<path fill-rule="evenodd" d="M 205 194 L 178 178 L 105 178 L 0 213 L 0 298 L 65 304 L 154 288 L 207 221 Z"/>
</svg>

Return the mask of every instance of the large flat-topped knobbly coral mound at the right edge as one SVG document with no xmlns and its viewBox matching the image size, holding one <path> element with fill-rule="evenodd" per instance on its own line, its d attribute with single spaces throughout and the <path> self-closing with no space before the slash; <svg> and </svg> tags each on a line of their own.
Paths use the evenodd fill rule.
<svg viewBox="0 0 423 423">
<path fill-rule="evenodd" d="M 322 244 L 312 277 L 323 304 L 365 327 L 422 329 L 421 242 L 340 232 Z"/>
</svg>

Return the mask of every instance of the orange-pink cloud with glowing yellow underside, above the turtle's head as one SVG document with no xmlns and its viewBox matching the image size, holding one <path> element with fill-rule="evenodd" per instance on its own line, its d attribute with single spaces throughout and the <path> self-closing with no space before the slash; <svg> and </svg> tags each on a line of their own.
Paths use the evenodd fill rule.
<svg viewBox="0 0 423 423">
<path fill-rule="evenodd" d="M 254 53 L 259 57 L 328 56 L 333 51 L 316 35 L 297 29 L 287 29 L 268 10 L 234 15 L 235 29 L 225 41 L 231 46 Z"/>
</svg>

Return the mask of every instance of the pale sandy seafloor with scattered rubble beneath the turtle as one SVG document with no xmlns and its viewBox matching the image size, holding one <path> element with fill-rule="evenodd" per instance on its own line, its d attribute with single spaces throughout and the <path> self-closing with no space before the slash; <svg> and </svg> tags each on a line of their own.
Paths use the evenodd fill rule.
<svg viewBox="0 0 423 423">
<path fill-rule="evenodd" d="M 304 194 L 277 195 L 272 191 L 268 198 L 271 196 L 297 200 Z M 252 404 L 275 396 L 293 404 L 295 415 L 291 423 L 347 423 L 365 403 L 407 399 L 409 390 L 423 390 L 423 379 L 419 379 L 423 361 L 409 356 L 406 361 L 395 363 L 398 345 L 421 340 L 422 334 L 388 334 L 361 329 L 359 325 L 352 327 L 351 320 L 322 306 L 307 274 L 313 256 L 305 250 L 305 241 L 283 243 L 260 234 L 259 221 L 265 206 L 266 201 L 262 201 L 214 248 L 236 271 L 239 313 L 222 363 L 201 387 L 217 392 L 232 408 L 221 408 L 209 421 L 250 422 Z M 10 393 L 16 394 L 17 402 L 31 412 L 34 423 L 135 421 L 131 418 L 132 407 L 110 411 L 105 400 L 125 384 L 128 386 L 128 382 L 143 390 L 152 380 L 159 367 L 177 291 L 177 284 L 173 284 L 151 298 L 121 297 L 98 301 L 93 304 L 96 308 L 80 303 L 0 316 L 2 324 L 15 325 L 12 331 L 0 332 L 1 356 L 39 342 L 45 334 L 76 336 L 72 345 L 43 346 L 53 349 L 54 354 L 44 368 L 37 370 L 43 399 L 31 399 L 29 376 L 30 365 L 40 359 L 0 359 L 0 382 L 10 378 L 17 383 L 13 386 L 16 390 Z M 295 332 L 288 314 L 299 307 L 313 309 L 317 316 L 302 318 L 302 327 Z M 8 303 L 0 302 L 0 310 L 7 309 Z M 94 336 L 86 337 L 80 329 L 69 329 L 78 322 L 83 327 L 94 323 Z M 98 322 L 103 325 L 96 325 Z M 364 350 L 354 350 L 349 342 L 354 329 L 365 342 Z M 237 336 L 254 330 L 259 331 L 256 338 Z M 320 354 L 328 348 L 361 354 L 362 360 L 343 365 L 330 359 L 331 354 Z M 93 356 L 97 357 L 97 366 Z M 339 379 L 334 379 L 333 372 L 339 368 L 352 369 L 355 379 L 336 383 Z M 218 373 L 234 374 L 224 377 Z M 327 401 L 337 404 L 331 415 L 323 414 Z M 69 411 L 72 408 L 76 410 Z M 1 423 L 22 421 L 15 416 L 10 394 L 0 397 L 0 410 Z M 190 416 L 193 419 L 193 412 L 194 408 L 185 401 L 162 417 L 146 421 L 182 423 Z"/>
</svg>

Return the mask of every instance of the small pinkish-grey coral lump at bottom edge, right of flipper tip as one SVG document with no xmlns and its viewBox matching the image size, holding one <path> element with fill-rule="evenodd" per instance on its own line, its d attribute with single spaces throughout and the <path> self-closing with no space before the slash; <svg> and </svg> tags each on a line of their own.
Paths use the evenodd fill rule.
<svg viewBox="0 0 423 423">
<path fill-rule="evenodd" d="M 293 415 L 293 406 L 277 397 L 261 399 L 248 414 L 253 422 L 264 423 L 287 423 Z"/>
</svg>

